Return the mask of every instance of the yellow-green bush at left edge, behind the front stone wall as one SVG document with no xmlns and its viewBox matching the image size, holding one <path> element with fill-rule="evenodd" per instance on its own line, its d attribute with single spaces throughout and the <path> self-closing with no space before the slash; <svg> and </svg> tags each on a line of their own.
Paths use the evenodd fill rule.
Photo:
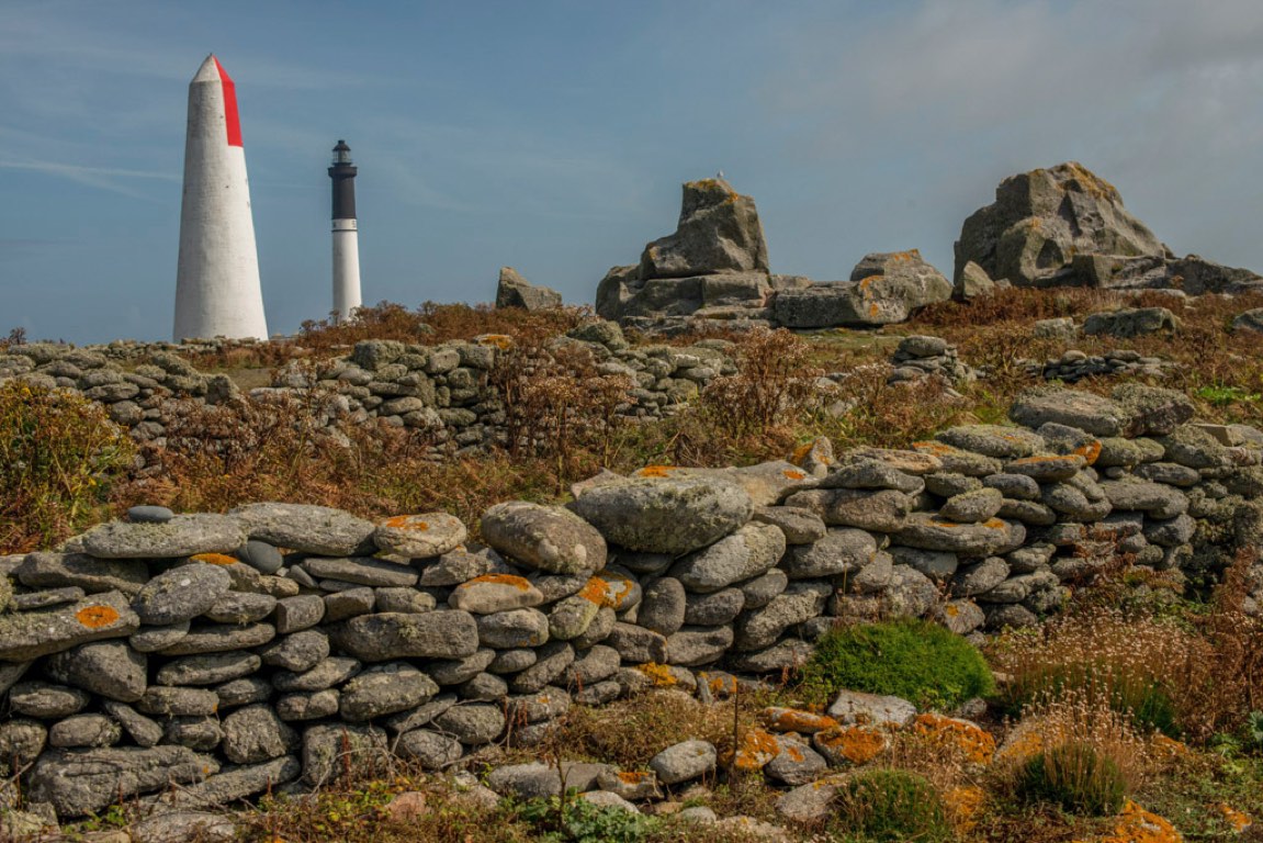
<svg viewBox="0 0 1263 843">
<path fill-rule="evenodd" d="M 134 455 L 101 404 L 20 380 L 0 384 L 0 552 L 49 547 L 99 519 Z"/>
</svg>

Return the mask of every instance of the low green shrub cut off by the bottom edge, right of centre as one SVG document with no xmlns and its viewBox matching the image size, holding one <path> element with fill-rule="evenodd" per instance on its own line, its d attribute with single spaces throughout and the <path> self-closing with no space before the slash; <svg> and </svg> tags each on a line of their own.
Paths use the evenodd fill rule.
<svg viewBox="0 0 1263 843">
<path fill-rule="evenodd" d="M 952 839 L 952 825 L 938 792 L 926 779 L 898 768 L 869 770 L 837 794 L 837 820 L 865 840 Z"/>
</svg>

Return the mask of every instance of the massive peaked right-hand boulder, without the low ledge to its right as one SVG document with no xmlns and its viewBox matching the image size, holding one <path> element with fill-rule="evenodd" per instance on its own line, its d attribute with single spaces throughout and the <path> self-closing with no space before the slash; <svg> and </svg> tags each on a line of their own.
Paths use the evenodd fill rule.
<svg viewBox="0 0 1263 843">
<path fill-rule="evenodd" d="M 1075 255 L 1087 254 L 1161 258 L 1166 248 L 1113 185 L 1068 162 L 1000 182 L 995 202 L 961 227 L 955 276 L 973 260 L 1018 287 L 1066 286 L 1076 283 Z"/>
</svg>

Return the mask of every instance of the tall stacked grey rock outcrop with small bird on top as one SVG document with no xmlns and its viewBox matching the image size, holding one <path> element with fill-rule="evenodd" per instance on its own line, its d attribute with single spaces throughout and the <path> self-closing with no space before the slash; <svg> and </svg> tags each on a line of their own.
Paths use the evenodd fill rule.
<svg viewBox="0 0 1263 843">
<path fill-rule="evenodd" d="M 608 320 L 687 317 L 711 307 L 762 308 L 772 281 L 754 200 L 722 178 L 683 186 L 674 234 L 648 244 L 640 263 L 615 267 L 596 289 Z"/>
</svg>

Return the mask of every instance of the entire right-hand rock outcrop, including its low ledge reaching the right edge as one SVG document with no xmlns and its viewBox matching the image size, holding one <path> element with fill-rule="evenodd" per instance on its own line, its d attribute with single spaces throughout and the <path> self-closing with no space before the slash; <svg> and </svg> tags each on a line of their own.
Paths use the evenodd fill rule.
<svg viewBox="0 0 1263 843">
<path fill-rule="evenodd" d="M 975 269 L 966 269 L 970 263 Z M 1263 278 L 1199 255 L 1176 258 L 1123 197 L 1082 164 L 1010 176 L 956 241 L 957 289 L 981 269 L 1018 287 L 1172 288 L 1200 296 L 1255 289 Z M 973 279 L 973 281 L 971 281 Z"/>
</svg>

